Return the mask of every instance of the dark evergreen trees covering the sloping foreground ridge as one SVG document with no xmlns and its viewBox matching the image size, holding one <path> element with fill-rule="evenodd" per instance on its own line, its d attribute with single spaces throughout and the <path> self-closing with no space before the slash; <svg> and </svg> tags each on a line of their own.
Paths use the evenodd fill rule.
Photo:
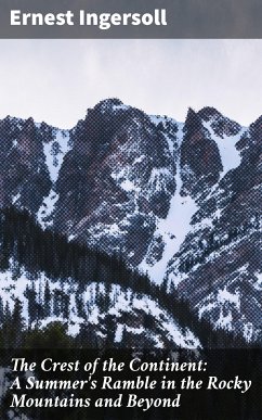
<svg viewBox="0 0 262 420">
<path fill-rule="evenodd" d="M 73 278 L 79 290 L 91 282 L 103 282 L 106 293 L 99 295 L 100 305 L 109 305 L 108 292 L 112 284 L 119 284 L 139 295 L 152 297 L 158 305 L 167 310 L 170 316 L 183 328 L 189 328 L 200 340 L 205 348 L 217 347 L 248 347 L 248 344 L 238 335 L 225 330 L 212 330 L 209 322 L 198 318 L 188 303 L 181 300 L 174 289 L 152 283 L 147 276 L 133 270 L 126 265 L 120 255 L 108 256 L 105 253 L 68 240 L 52 230 L 42 230 L 27 211 L 18 212 L 10 207 L 1 211 L 0 215 L 0 270 L 10 267 L 10 258 L 15 260 L 16 269 L 24 267 L 31 273 L 31 279 L 37 278 L 40 271 L 49 279 Z M 34 290 L 34 289 L 32 289 Z M 36 291 L 28 290 L 28 310 L 30 318 L 49 315 L 50 291 L 45 285 L 44 302 L 41 307 L 36 303 Z M 68 296 L 61 298 L 64 313 L 67 311 Z M 108 307 L 107 307 L 108 309 Z M 84 308 L 78 302 L 78 310 Z M 87 334 L 79 334 L 73 339 L 68 336 L 65 328 L 58 322 L 53 322 L 40 330 L 35 324 L 34 329 L 26 327 L 22 317 L 22 303 L 17 298 L 13 311 L 9 307 L 0 307 L 1 330 L 0 343 L 2 347 L 40 346 L 40 347 L 89 347 Z M 17 333 L 18 331 L 18 333 Z M 113 343 L 107 343 L 109 346 Z M 252 344 L 252 347 L 254 345 Z"/>
</svg>

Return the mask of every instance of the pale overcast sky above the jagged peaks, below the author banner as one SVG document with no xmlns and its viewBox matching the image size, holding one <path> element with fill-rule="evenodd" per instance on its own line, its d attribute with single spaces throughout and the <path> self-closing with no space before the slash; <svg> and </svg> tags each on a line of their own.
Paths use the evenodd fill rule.
<svg viewBox="0 0 262 420">
<path fill-rule="evenodd" d="M 71 128 L 119 98 L 182 122 L 214 106 L 248 126 L 262 114 L 262 40 L 0 40 L 0 118 Z"/>
</svg>

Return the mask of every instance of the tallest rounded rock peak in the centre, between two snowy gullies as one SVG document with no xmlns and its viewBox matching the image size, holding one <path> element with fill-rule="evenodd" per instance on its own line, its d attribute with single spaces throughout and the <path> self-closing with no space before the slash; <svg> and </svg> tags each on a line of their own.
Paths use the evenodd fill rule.
<svg viewBox="0 0 262 420">
<path fill-rule="evenodd" d="M 174 141 L 175 129 L 172 124 Z M 137 265 L 175 190 L 175 163 L 162 125 L 108 100 L 88 111 L 71 139 L 56 184 L 54 227 Z"/>
</svg>

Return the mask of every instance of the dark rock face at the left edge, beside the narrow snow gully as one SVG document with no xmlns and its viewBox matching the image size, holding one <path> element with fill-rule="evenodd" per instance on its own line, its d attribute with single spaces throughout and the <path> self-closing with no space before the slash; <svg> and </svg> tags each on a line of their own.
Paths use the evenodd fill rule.
<svg viewBox="0 0 262 420">
<path fill-rule="evenodd" d="M 35 215 L 38 213 L 52 190 L 60 160 L 65 153 L 60 140 L 67 136 L 67 131 L 45 123 L 35 124 L 32 118 L 6 117 L 0 122 L 1 207 L 14 204 Z"/>
</svg>

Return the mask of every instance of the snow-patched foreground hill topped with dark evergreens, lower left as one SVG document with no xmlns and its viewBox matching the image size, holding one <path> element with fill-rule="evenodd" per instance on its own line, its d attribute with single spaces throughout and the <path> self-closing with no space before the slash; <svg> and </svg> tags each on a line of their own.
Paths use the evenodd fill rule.
<svg viewBox="0 0 262 420">
<path fill-rule="evenodd" d="M 1 211 L 0 232 L 0 347 L 57 322 L 80 347 L 201 346 L 188 324 L 205 324 L 188 305 L 173 307 L 119 257 L 43 231 L 25 211 Z"/>
</svg>

